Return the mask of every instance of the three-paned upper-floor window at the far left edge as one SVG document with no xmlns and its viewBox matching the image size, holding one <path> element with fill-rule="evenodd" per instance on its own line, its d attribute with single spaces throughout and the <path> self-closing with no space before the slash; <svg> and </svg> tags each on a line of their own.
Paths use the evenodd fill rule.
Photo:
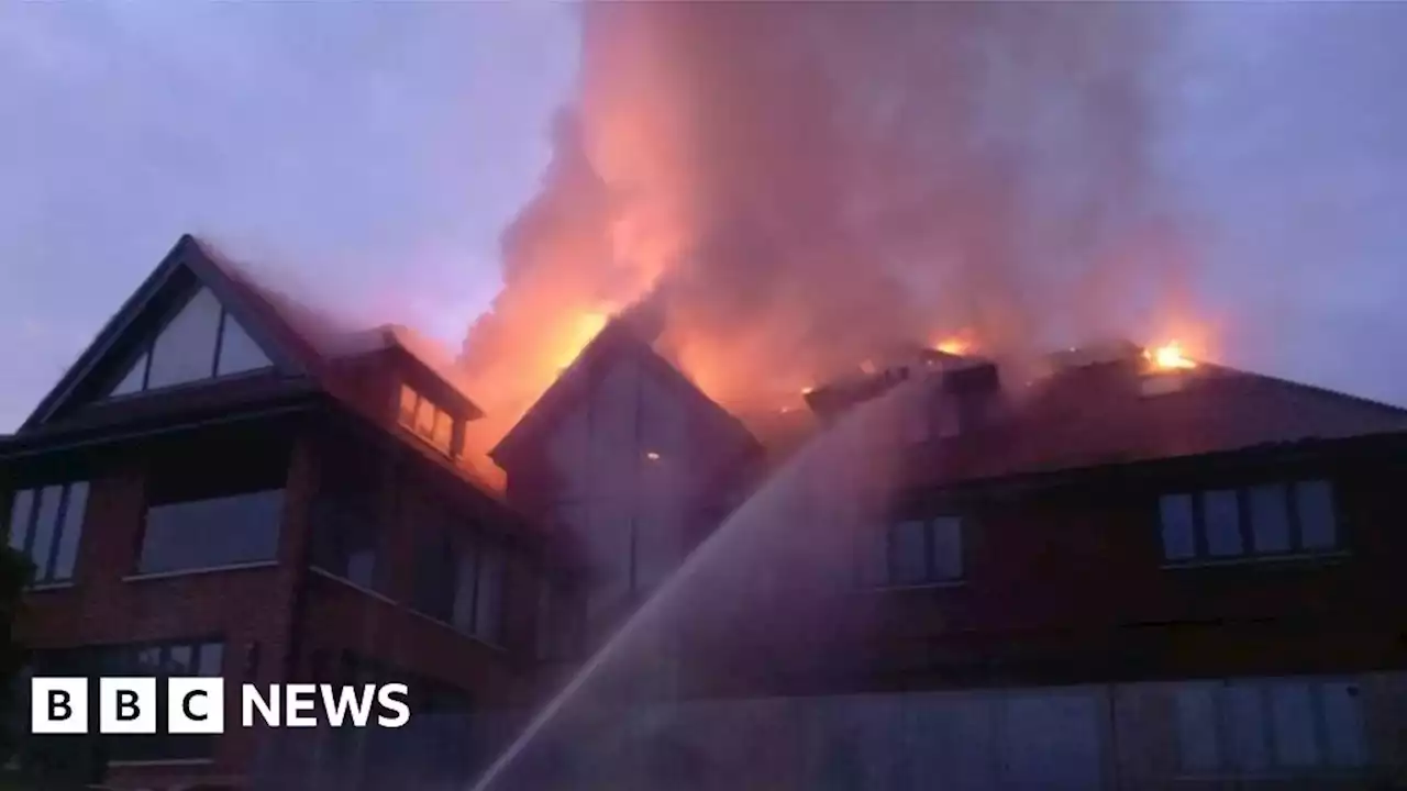
<svg viewBox="0 0 1407 791">
<path fill-rule="evenodd" d="M 73 578 L 83 517 L 87 510 L 87 481 L 23 488 L 10 507 L 10 548 L 34 563 L 35 583 Z"/>
</svg>

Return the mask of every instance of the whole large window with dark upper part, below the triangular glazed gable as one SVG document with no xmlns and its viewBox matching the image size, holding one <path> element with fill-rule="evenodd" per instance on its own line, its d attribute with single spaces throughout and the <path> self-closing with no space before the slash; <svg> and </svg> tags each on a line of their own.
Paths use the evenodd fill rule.
<svg viewBox="0 0 1407 791">
<path fill-rule="evenodd" d="M 146 486 L 138 573 L 218 569 L 277 557 L 287 449 L 248 450 L 225 449 L 225 466 L 215 467 L 190 464 L 184 453 L 156 463 Z"/>
</svg>

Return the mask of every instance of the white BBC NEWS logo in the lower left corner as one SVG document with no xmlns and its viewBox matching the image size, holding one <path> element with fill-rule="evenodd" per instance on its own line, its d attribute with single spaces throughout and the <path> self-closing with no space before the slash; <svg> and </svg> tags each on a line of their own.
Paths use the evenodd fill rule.
<svg viewBox="0 0 1407 791">
<path fill-rule="evenodd" d="M 224 733 L 224 678 L 166 678 L 166 711 L 159 712 L 156 678 L 98 678 L 98 733 L 156 733 L 158 716 L 166 733 Z M 90 680 L 35 677 L 30 680 L 30 729 L 34 733 L 87 733 Z M 262 722 L 270 728 L 401 728 L 411 719 L 405 684 L 255 684 L 239 688 L 239 726 Z M 324 719 L 318 718 L 322 709 Z M 376 716 L 373 718 L 373 712 Z"/>
</svg>

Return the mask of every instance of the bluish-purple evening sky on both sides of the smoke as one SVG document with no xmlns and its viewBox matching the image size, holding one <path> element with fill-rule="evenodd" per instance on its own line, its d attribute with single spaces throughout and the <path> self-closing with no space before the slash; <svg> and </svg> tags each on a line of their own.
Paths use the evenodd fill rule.
<svg viewBox="0 0 1407 791">
<path fill-rule="evenodd" d="M 1188 15 L 1157 135 L 1216 359 L 1407 404 L 1407 4 Z M 0 432 L 183 232 L 457 346 L 575 65 L 552 3 L 0 4 Z"/>
</svg>

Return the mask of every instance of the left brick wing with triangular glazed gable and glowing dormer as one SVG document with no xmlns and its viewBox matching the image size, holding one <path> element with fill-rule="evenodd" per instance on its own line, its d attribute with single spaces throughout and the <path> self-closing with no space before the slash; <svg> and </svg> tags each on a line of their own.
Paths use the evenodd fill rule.
<svg viewBox="0 0 1407 791">
<path fill-rule="evenodd" d="M 514 702 L 543 536 L 463 459 L 477 417 L 407 331 L 345 332 L 180 239 L 0 441 L 31 669 Z M 257 739 L 114 739 L 107 783 L 238 787 Z"/>
</svg>

